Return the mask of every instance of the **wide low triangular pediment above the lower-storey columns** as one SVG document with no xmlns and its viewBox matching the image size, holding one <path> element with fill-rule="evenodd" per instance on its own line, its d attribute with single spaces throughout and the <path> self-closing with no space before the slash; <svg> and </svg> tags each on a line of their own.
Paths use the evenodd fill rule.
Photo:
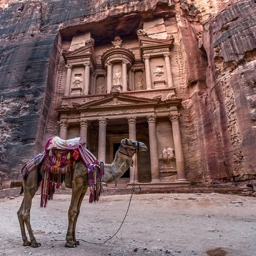
<svg viewBox="0 0 256 256">
<path fill-rule="evenodd" d="M 144 104 L 157 104 L 158 100 L 140 98 L 128 95 L 112 94 L 104 99 L 94 100 L 81 105 L 76 106 L 76 109 L 84 108 L 109 108 L 109 107 L 121 107 L 124 105 L 144 105 Z"/>
</svg>

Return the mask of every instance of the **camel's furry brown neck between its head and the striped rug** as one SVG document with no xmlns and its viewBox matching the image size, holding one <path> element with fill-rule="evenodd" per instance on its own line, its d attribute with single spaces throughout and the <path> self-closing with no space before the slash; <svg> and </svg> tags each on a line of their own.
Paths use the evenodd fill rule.
<svg viewBox="0 0 256 256">
<path fill-rule="evenodd" d="M 130 152 L 130 151 L 129 151 Z M 134 151 L 135 152 L 135 151 Z M 131 156 L 134 155 L 134 152 L 130 152 Z M 122 154 L 124 153 L 124 154 Z M 119 148 L 116 152 L 115 159 L 112 164 L 104 165 L 104 175 L 102 178 L 103 182 L 109 183 L 114 181 L 114 177 L 111 172 L 111 165 L 113 169 L 113 173 L 115 175 L 115 179 L 119 179 L 131 166 L 132 158 L 128 154 L 128 152 L 122 148 Z"/>
</svg>

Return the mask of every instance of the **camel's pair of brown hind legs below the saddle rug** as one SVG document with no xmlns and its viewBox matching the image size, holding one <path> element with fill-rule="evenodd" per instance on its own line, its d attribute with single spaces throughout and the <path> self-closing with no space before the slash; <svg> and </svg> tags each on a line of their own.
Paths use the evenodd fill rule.
<svg viewBox="0 0 256 256">
<path fill-rule="evenodd" d="M 38 186 L 40 186 L 40 182 L 41 181 L 38 182 L 37 168 L 33 169 L 29 173 L 26 181 L 23 181 L 24 198 L 17 214 L 20 222 L 20 230 L 21 230 L 24 246 L 26 245 L 30 245 L 31 247 L 41 246 L 41 244 L 35 240 L 35 236 L 33 235 L 32 228 L 30 225 L 30 209 L 32 205 L 32 199 L 35 195 L 35 192 L 38 190 Z M 26 224 L 26 227 L 29 233 L 31 244 L 29 244 L 30 242 L 27 240 L 27 237 L 26 237 L 24 222 Z"/>
</svg>

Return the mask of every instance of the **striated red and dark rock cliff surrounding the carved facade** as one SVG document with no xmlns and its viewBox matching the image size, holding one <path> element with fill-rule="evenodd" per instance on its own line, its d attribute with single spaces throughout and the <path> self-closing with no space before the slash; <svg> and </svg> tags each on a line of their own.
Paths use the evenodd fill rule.
<svg viewBox="0 0 256 256">
<path fill-rule="evenodd" d="M 68 45 L 69 37 L 93 24 L 97 44 L 117 32 L 129 36 L 144 20 L 156 18 L 175 37 L 171 61 L 176 95 L 183 99 L 187 179 L 214 183 L 255 177 L 254 1 L 3 0 L 0 8 L 3 184 L 18 180 L 21 166 L 58 129 L 54 110 L 64 93 L 58 81 L 65 76 L 58 65 L 61 50 L 69 48 L 62 38 Z"/>
</svg>

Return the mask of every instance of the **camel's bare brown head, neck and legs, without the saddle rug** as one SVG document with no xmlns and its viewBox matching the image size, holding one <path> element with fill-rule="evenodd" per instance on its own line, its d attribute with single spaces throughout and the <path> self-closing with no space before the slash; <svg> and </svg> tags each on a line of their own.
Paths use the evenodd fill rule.
<svg viewBox="0 0 256 256">
<path fill-rule="evenodd" d="M 131 166 L 133 155 L 137 151 L 146 150 L 147 147 L 144 143 L 138 141 L 135 142 L 129 139 L 122 140 L 119 149 L 116 151 L 113 163 L 104 164 L 104 175 L 102 177 L 102 182 L 109 183 L 119 179 L 119 177 L 121 177 Z M 111 169 L 113 170 L 113 174 Z M 17 212 L 23 246 L 41 246 L 41 244 L 35 240 L 35 236 L 33 235 L 30 225 L 30 209 L 32 199 L 35 195 L 35 192 L 41 185 L 41 180 L 41 171 L 40 167 L 38 166 L 35 167 L 31 172 L 29 172 L 26 180 L 23 180 L 24 198 L 20 205 L 20 209 Z M 81 203 L 88 187 L 89 185 L 87 179 L 87 167 L 84 165 L 84 162 L 79 157 L 79 159 L 73 166 L 72 196 L 70 207 L 68 210 L 68 228 L 65 244 L 66 247 L 76 247 L 77 245 L 79 245 L 79 241 L 76 240 L 76 222 L 79 216 Z M 30 241 L 27 239 L 26 236 L 25 224 L 29 233 Z"/>
</svg>

